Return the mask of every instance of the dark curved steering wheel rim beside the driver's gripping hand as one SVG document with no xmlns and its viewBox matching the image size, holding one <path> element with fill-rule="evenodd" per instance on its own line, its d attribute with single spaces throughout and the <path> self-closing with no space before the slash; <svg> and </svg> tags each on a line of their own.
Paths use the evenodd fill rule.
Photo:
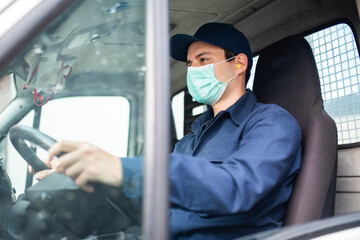
<svg viewBox="0 0 360 240">
<path fill-rule="evenodd" d="M 49 169 L 43 161 L 30 149 L 25 140 L 48 150 L 56 140 L 40 132 L 39 130 L 27 126 L 13 126 L 9 131 L 10 141 L 24 160 L 36 171 Z"/>
</svg>

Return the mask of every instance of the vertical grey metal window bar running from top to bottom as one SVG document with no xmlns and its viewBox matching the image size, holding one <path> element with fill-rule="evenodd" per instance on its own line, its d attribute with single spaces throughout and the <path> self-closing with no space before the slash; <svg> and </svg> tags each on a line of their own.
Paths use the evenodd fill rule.
<svg viewBox="0 0 360 240">
<path fill-rule="evenodd" d="M 169 238 L 169 2 L 146 1 L 145 172 L 143 236 Z M 156 219 L 156 221 L 154 221 Z"/>
</svg>

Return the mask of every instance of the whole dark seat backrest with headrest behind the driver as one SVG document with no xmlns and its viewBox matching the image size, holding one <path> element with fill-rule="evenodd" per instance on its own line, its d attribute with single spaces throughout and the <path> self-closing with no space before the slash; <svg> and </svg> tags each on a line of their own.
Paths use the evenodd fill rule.
<svg viewBox="0 0 360 240">
<path fill-rule="evenodd" d="M 302 163 L 284 224 L 332 216 L 335 202 L 337 130 L 325 112 L 315 59 L 301 36 L 285 38 L 259 54 L 254 93 L 297 120 L 302 135 Z"/>
</svg>

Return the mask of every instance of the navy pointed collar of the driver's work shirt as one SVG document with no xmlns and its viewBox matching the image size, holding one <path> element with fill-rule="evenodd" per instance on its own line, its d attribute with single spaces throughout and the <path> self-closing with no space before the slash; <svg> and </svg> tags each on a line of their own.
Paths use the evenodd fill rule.
<svg viewBox="0 0 360 240">
<path fill-rule="evenodd" d="M 231 105 L 228 109 L 223 112 L 228 112 L 232 121 L 240 125 L 241 122 L 249 115 L 252 111 L 256 103 L 255 94 L 247 89 L 246 93 L 239 98 L 233 105 Z M 220 113 L 219 113 L 220 114 Z M 201 127 L 208 122 L 210 119 L 214 117 L 214 111 L 210 108 L 200 117 L 198 117 L 194 123 L 192 124 L 192 130 L 196 133 L 197 131 L 201 131 Z"/>
</svg>

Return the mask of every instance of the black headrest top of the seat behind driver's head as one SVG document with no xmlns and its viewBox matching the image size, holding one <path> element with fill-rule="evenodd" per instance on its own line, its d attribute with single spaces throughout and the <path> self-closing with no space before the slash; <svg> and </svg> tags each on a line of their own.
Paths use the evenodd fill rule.
<svg viewBox="0 0 360 240">
<path fill-rule="evenodd" d="M 300 127 L 308 112 L 323 109 L 314 55 L 301 36 L 287 37 L 260 52 L 253 89 L 259 102 L 285 108 Z"/>
</svg>

